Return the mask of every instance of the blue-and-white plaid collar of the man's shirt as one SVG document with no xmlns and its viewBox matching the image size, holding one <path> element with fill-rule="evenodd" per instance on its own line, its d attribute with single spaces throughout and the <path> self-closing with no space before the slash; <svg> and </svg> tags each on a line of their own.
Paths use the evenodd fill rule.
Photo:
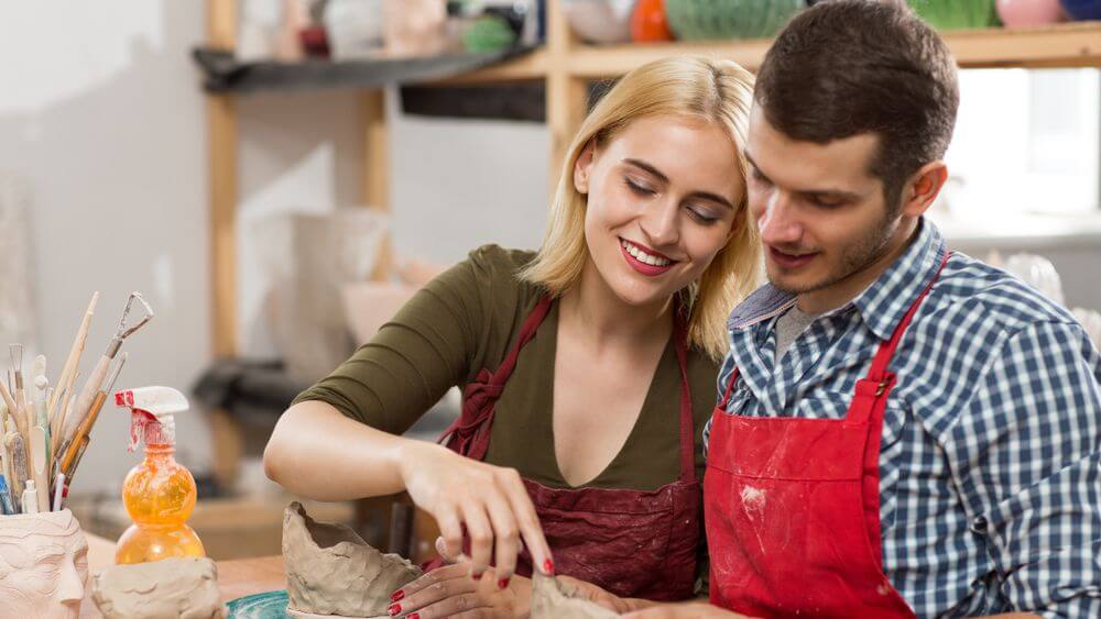
<svg viewBox="0 0 1101 619">
<path fill-rule="evenodd" d="M 947 251 L 940 232 L 923 217 L 917 236 L 906 251 L 857 298 L 825 316 L 855 309 L 872 333 L 880 340 L 890 340 L 911 305 L 937 273 Z M 734 308 L 727 328 L 738 331 L 768 321 L 786 312 L 795 300 L 795 295 L 765 284 Z"/>
</svg>

